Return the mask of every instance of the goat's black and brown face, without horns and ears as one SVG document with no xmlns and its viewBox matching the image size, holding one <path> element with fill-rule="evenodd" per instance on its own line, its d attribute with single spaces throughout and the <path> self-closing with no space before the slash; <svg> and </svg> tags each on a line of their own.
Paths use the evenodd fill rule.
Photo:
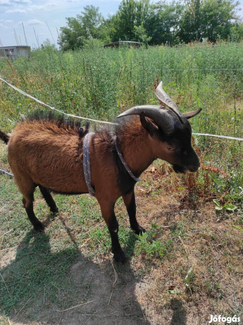
<svg viewBox="0 0 243 325">
<path fill-rule="evenodd" d="M 166 135 L 158 127 L 154 133 L 154 152 L 158 158 L 173 165 L 176 173 L 185 173 L 187 170 L 196 172 L 200 166 L 199 158 L 192 148 L 191 125 L 184 119 L 184 123 L 176 123 L 172 134 Z"/>
</svg>

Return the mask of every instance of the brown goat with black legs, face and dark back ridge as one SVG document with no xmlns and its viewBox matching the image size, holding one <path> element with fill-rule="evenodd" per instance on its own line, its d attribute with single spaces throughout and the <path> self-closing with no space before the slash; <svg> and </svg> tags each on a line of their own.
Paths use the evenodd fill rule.
<svg viewBox="0 0 243 325">
<path fill-rule="evenodd" d="M 141 107 L 144 110 L 141 111 Z M 133 231 L 141 234 L 145 229 L 136 220 L 136 181 L 120 161 L 114 135 L 117 136 L 126 163 L 136 177 L 157 158 L 173 164 L 176 172 L 196 171 L 200 165 L 191 146 L 191 127 L 187 121 L 200 110 L 185 113 L 185 116 L 181 114 L 179 119 L 177 114 L 168 113 L 165 111 L 168 109 L 162 107 L 162 114 L 174 118 L 171 130 L 167 129 L 168 121 L 158 121 L 158 108 L 154 110 L 155 119 L 152 118 L 150 106 L 130 109 L 122 115 L 135 114 L 139 117 L 124 117 L 115 127 L 101 128 L 90 136 L 91 183 L 111 235 L 112 252 L 117 262 L 125 260 L 125 253 L 118 240 L 118 222 L 114 213 L 115 202 L 120 196 L 126 205 Z M 166 117 L 167 115 L 164 119 Z M 161 123 L 165 124 L 161 127 Z M 58 212 L 58 208 L 50 191 L 64 194 L 88 193 L 83 171 L 83 140 L 88 133 L 88 125 L 83 132 L 80 132 L 79 127 L 79 123 L 66 121 L 62 116 L 35 113 L 18 123 L 11 135 L 0 132 L 0 138 L 8 143 L 8 162 L 23 196 L 26 213 L 36 230 L 43 230 L 44 227 L 33 211 L 35 187 L 39 186 L 53 213 Z"/>
</svg>

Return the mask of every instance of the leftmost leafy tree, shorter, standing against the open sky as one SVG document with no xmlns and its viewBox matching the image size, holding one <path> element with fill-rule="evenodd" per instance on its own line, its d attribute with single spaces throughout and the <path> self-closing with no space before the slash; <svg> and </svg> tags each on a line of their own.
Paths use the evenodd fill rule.
<svg viewBox="0 0 243 325">
<path fill-rule="evenodd" d="M 76 18 L 66 18 L 67 26 L 61 27 L 58 44 L 64 49 L 83 47 L 88 38 L 109 41 L 104 25 L 104 18 L 99 12 L 99 7 L 86 6 Z"/>
</svg>

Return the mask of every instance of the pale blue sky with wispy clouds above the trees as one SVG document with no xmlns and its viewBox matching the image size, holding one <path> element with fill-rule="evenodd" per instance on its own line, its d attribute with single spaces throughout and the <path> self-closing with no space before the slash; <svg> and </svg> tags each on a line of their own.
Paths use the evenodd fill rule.
<svg viewBox="0 0 243 325">
<path fill-rule="evenodd" d="M 155 1 L 156 2 L 156 1 Z M 22 22 L 28 45 L 37 46 L 34 29 L 38 34 L 39 43 L 49 38 L 52 41 L 46 21 L 57 41 L 57 30 L 66 23 L 66 17 L 75 17 L 85 6 L 94 5 L 100 8 L 104 17 L 117 11 L 120 0 L 0 0 L 0 39 L 4 46 L 16 45 L 14 29 L 21 39 L 21 44 L 26 45 Z M 243 0 L 240 0 L 243 7 Z M 242 17 L 242 10 L 239 12 Z M 34 29 L 33 29 L 34 27 Z M 20 43 L 20 40 L 19 40 Z"/>
</svg>

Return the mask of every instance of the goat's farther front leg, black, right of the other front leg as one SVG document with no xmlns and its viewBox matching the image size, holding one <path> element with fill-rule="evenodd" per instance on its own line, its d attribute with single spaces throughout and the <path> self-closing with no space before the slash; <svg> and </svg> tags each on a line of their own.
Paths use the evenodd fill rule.
<svg viewBox="0 0 243 325">
<path fill-rule="evenodd" d="M 122 196 L 122 198 L 123 198 L 123 201 L 127 208 L 129 221 L 130 221 L 132 230 L 137 235 L 142 234 L 143 232 L 145 232 L 145 229 L 138 224 L 137 219 L 136 219 L 136 202 L 135 202 L 134 191 L 132 191 L 131 193 L 129 193 L 127 195 Z"/>
</svg>

